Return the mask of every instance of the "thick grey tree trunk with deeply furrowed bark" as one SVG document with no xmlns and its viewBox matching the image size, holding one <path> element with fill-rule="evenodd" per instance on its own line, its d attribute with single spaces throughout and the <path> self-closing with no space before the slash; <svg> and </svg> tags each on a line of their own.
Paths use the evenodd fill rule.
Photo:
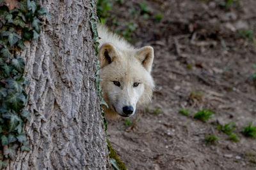
<svg viewBox="0 0 256 170">
<path fill-rule="evenodd" d="M 31 122 L 25 131 L 31 151 L 19 150 L 6 169 L 108 168 L 95 87 L 90 2 L 42 1 L 51 18 L 45 20 L 40 39 L 27 42 L 20 54 L 30 81 L 26 91 Z"/>
</svg>

